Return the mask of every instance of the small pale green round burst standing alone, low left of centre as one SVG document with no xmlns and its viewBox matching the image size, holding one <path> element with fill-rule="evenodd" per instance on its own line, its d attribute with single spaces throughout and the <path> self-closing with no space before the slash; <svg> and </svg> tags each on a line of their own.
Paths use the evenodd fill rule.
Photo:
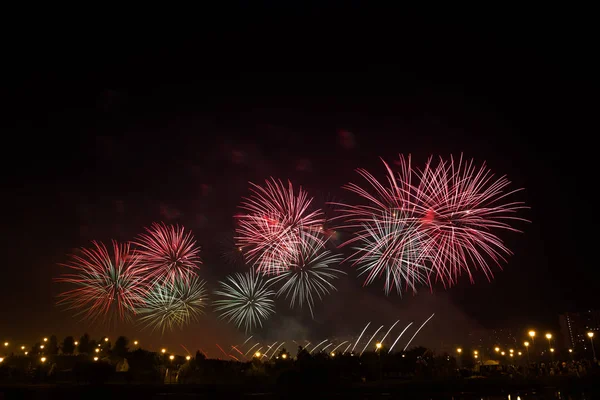
<svg viewBox="0 0 600 400">
<path fill-rule="evenodd" d="M 275 293 L 254 271 L 236 273 L 220 282 L 220 286 L 215 295 L 222 299 L 214 302 L 215 310 L 220 318 L 235 323 L 238 328 L 243 325 L 246 332 L 262 326 L 262 322 L 275 313 Z"/>
</svg>

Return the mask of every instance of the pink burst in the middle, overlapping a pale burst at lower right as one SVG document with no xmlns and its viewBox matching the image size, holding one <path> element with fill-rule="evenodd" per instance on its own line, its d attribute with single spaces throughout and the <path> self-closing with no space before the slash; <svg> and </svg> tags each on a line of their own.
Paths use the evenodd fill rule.
<svg viewBox="0 0 600 400">
<path fill-rule="evenodd" d="M 257 271 L 278 274 L 303 237 L 321 240 L 323 212 L 311 211 L 312 198 L 302 188 L 296 194 L 289 181 L 286 186 L 271 178 L 264 186 L 251 185 L 252 195 L 240 206 L 245 213 L 236 216 L 236 244 Z"/>
</svg>

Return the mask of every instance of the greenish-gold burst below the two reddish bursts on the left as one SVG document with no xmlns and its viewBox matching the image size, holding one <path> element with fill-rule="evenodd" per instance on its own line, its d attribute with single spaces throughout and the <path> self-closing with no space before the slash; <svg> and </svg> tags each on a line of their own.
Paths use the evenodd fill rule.
<svg viewBox="0 0 600 400">
<path fill-rule="evenodd" d="M 152 329 L 182 329 L 204 314 L 206 290 L 197 276 L 157 282 L 148 292 L 145 305 L 139 309 L 140 322 Z"/>
</svg>

